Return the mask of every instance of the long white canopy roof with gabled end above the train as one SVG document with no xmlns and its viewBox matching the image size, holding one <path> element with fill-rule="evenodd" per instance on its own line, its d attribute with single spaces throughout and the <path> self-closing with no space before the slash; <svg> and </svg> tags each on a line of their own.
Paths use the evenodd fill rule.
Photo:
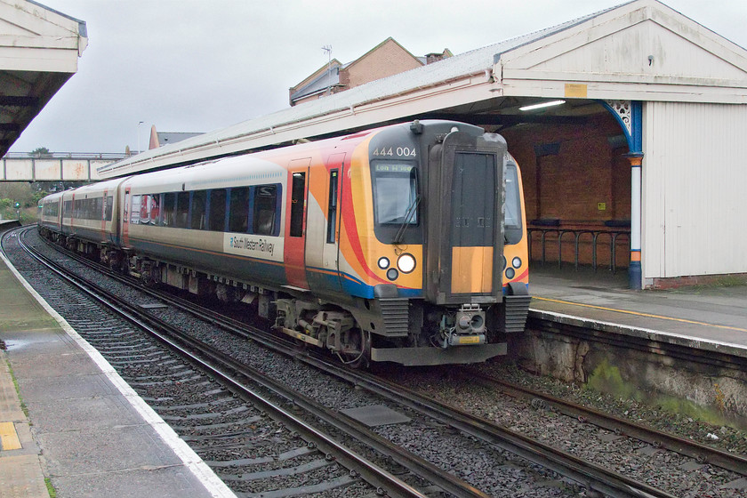
<svg viewBox="0 0 747 498">
<path fill-rule="evenodd" d="M 540 116 L 522 110 L 552 99 L 570 105 Z M 745 104 L 747 51 L 657 0 L 633 0 L 150 150 L 98 173 L 112 178 L 423 117 L 567 122 L 596 112 L 599 100 Z"/>
</svg>

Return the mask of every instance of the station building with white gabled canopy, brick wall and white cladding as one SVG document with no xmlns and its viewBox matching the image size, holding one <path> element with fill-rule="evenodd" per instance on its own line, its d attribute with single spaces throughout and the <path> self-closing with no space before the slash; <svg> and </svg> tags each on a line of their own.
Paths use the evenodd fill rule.
<svg viewBox="0 0 747 498">
<path fill-rule="evenodd" d="M 299 103 L 99 169 L 102 178 L 410 119 L 502 133 L 532 258 L 631 288 L 747 276 L 747 51 L 656 0 Z"/>
</svg>

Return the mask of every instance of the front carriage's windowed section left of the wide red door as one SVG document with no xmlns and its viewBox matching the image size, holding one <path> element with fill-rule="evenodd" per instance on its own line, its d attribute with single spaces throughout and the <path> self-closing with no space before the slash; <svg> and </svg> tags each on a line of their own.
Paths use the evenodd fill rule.
<svg viewBox="0 0 747 498">
<path fill-rule="evenodd" d="M 133 272 L 223 301 L 250 282 L 279 288 L 285 184 L 285 168 L 254 157 L 125 181 L 120 231 Z"/>
</svg>

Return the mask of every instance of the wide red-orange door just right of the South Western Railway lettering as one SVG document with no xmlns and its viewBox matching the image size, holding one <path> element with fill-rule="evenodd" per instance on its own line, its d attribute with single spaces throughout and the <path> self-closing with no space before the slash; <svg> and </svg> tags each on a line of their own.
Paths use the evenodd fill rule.
<svg viewBox="0 0 747 498">
<path fill-rule="evenodd" d="M 288 165 L 288 197 L 285 205 L 285 278 L 288 285 L 308 289 L 306 279 L 306 213 L 311 158 L 294 159 Z"/>
</svg>

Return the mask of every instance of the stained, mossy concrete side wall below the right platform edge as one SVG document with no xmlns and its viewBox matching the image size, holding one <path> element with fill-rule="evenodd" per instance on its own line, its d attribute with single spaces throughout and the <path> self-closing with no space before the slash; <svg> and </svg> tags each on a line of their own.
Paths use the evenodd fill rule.
<svg viewBox="0 0 747 498">
<path fill-rule="evenodd" d="M 554 326 L 557 332 L 530 321 L 526 333 L 513 338 L 508 349 L 518 365 L 706 422 L 747 428 L 744 369 L 698 362 L 695 349 L 689 357 L 684 349 L 672 356 L 662 354 L 667 349 L 657 341 L 631 339 L 614 344 L 609 333 L 584 339 L 563 333 L 562 325 Z M 635 347 L 631 348 L 632 343 Z"/>
</svg>

